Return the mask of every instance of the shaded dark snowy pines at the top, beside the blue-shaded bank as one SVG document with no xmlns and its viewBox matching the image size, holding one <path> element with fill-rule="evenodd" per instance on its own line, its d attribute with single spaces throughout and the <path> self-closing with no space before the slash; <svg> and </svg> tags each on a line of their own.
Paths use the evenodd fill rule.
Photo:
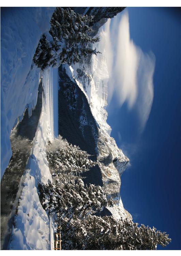
<svg viewBox="0 0 181 256">
<path fill-rule="evenodd" d="M 44 33 L 37 46 L 33 57 L 35 64 L 43 70 L 51 65 L 59 67 L 61 63 L 82 62 L 87 56 L 100 53 L 91 47 L 99 41 L 99 37 L 91 37 L 92 18 L 70 8 L 57 7 L 50 21 L 49 34 Z"/>
</svg>

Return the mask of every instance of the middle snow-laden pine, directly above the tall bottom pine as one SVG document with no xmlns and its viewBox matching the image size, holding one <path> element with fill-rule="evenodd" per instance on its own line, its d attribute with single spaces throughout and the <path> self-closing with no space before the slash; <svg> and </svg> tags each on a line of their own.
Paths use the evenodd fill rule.
<svg viewBox="0 0 181 256">
<path fill-rule="evenodd" d="M 107 203 L 101 186 L 84 185 L 82 179 L 70 174 L 62 174 L 53 183 L 39 183 L 40 201 L 50 214 L 61 217 L 85 218 L 88 214 L 100 211 Z"/>
</svg>

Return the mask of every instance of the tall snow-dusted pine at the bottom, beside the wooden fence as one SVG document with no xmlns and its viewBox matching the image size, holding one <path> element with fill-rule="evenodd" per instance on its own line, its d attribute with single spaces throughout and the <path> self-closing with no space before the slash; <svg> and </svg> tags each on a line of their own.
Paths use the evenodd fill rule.
<svg viewBox="0 0 181 256">
<path fill-rule="evenodd" d="M 89 215 L 84 220 L 64 219 L 61 225 L 63 250 L 155 250 L 171 241 L 165 232 L 138 227 L 127 219 Z"/>
</svg>

